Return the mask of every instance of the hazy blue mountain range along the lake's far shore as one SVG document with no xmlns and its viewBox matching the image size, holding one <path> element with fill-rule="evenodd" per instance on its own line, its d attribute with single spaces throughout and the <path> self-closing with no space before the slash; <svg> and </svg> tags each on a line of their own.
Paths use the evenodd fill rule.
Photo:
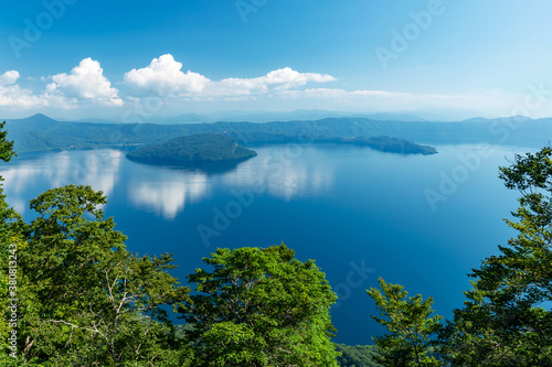
<svg viewBox="0 0 552 367">
<path fill-rule="evenodd" d="M 9 139 L 19 152 L 141 145 L 181 136 L 226 133 L 241 144 L 305 142 L 320 139 L 393 137 L 425 144 L 490 143 L 542 147 L 552 138 L 552 118 L 474 118 L 458 122 L 378 120 L 339 117 L 276 122 L 113 123 L 57 121 L 44 115 L 11 119 Z"/>
</svg>

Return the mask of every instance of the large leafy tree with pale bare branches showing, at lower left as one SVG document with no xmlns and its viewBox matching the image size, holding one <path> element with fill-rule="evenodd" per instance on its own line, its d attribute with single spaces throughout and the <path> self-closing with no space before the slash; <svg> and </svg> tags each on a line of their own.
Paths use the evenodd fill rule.
<svg viewBox="0 0 552 367">
<path fill-rule="evenodd" d="M 31 201 L 38 212 L 19 251 L 19 345 L 24 359 L 56 366 L 181 366 L 167 307 L 188 298 L 168 273 L 172 257 L 138 257 L 104 219 L 102 192 L 53 188 Z"/>
</svg>

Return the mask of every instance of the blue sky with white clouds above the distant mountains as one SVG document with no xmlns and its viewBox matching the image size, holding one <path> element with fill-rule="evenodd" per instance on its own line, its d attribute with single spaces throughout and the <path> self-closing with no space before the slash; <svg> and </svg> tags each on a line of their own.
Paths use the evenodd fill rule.
<svg viewBox="0 0 552 367">
<path fill-rule="evenodd" d="M 546 0 L 4 1 L 0 119 L 552 116 Z"/>
</svg>

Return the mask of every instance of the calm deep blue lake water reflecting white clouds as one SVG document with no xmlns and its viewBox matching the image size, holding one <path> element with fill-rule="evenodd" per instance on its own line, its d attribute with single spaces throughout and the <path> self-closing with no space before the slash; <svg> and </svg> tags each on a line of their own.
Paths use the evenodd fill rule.
<svg viewBox="0 0 552 367">
<path fill-rule="evenodd" d="M 108 196 L 107 216 L 139 253 L 173 252 L 185 276 L 217 247 L 284 241 L 315 259 L 338 303 L 337 342 L 372 344 L 382 328 L 365 293 L 379 277 L 433 295 L 446 317 L 461 306 L 466 273 L 514 235 L 502 218 L 517 193 L 498 179 L 512 147 L 443 145 L 400 155 L 360 147 L 273 145 L 219 172 L 150 166 L 118 150 L 23 154 L 3 164 L 8 202 L 26 219 L 29 199 L 64 184 Z"/>
</svg>

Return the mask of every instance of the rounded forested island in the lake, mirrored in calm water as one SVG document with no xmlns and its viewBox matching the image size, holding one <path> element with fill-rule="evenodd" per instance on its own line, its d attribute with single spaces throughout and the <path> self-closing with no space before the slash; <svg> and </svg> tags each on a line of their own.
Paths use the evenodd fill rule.
<svg viewBox="0 0 552 367">
<path fill-rule="evenodd" d="M 202 166 L 214 163 L 238 163 L 257 155 L 223 133 L 198 133 L 163 143 L 138 148 L 127 154 L 131 161 L 150 164 Z"/>
</svg>

